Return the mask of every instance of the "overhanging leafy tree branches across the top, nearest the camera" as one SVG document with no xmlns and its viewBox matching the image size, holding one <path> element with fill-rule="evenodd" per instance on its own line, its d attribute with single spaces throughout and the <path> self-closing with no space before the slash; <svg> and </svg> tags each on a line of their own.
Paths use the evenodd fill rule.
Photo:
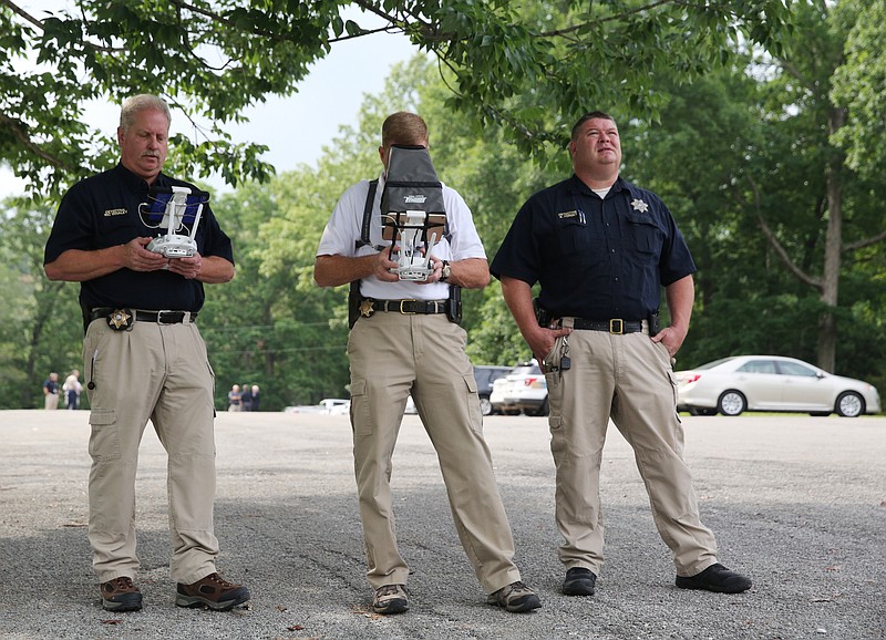
<svg viewBox="0 0 886 640">
<path fill-rule="evenodd" d="M 172 173 L 264 180 L 274 171 L 265 147 L 233 143 L 225 123 L 268 95 L 298 91 L 311 64 L 346 39 L 406 34 L 447 71 L 451 107 L 543 153 L 587 95 L 655 113 L 650 73 L 702 73 L 740 38 L 775 45 L 787 18 L 784 0 L 72 4 L 32 16 L 0 1 L 0 162 L 34 194 L 58 194 L 114 163 L 114 141 L 82 122 L 86 104 L 161 90 L 198 132 L 174 138 Z"/>
</svg>

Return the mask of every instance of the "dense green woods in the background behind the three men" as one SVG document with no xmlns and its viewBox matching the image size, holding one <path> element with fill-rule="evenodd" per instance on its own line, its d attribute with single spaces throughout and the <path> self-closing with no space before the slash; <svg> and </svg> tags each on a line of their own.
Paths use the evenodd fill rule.
<svg viewBox="0 0 886 640">
<path fill-rule="evenodd" d="M 264 184 L 247 180 L 214 200 L 237 260 L 233 282 L 207 287 L 200 320 L 218 406 L 235 383 L 258 383 L 267 410 L 347 394 L 347 288 L 313 283 L 313 254 L 339 195 L 380 172 L 381 122 L 401 109 L 427 120 L 437 172 L 472 207 L 490 257 L 524 199 L 568 176 L 563 123 L 570 125 L 588 109 L 610 111 L 621 128 L 622 175 L 668 203 L 699 267 L 678 368 L 728 354 L 777 353 L 886 390 L 886 184 L 870 168 L 880 166 L 877 149 L 884 148 L 875 97 L 883 102 L 886 90 L 876 75 L 882 63 L 865 53 L 882 47 L 867 27 L 882 21 L 884 1 L 794 3 L 795 28 L 780 48 L 736 50 L 692 83 L 680 65 L 652 65 L 656 73 L 642 82 L 626 80 L 624 99 L 588 85 L 581 95 L 589 97 L 580 104 L 567 101 L 563 111 L 543 104 L 532 127 L 538 91 L 512 84 L 515 78 L 503 81 L 501 87 L 512 90 L 502 102 L 470 109 L 453 102 L 452 89 L 466 82 L 457 69 L 444 66 L 441 78 L 441 68 L 424 55 L 396 68 L 316 166 Z M 593 6 L 605 13 L 638 3 Z M 868 6 L 870 12 L 863 13 L 859 8 Z M 533 16 L 548 14 L 527 11 L 524 20 Z M 573 14 L 557 16 L 562 21 Z M 536 19 L 555 27 L 552 18 Z M 578 60 L 575 51 L 569 60 Z M 548 86 L 548 80 L 536 82 Z M 852 91 L 854 83 L 862 83 L 858 91 Z M 632 93 L 640 85 L 649 96 L 642 104 Z M 656 118 L 646 117 L 650 106 Z M 537 144 L 527 153 L 533 137 Z M 2 140 L 0 133 L 0 148 Z M 49 282 L 41 268 L 54 207 L 51 200 L 10 203 L 0 228 L 0 287 L 8 302 L 0 306 L 0 378 L 7 389 L 0 407 L 39 406 L 49 371 L 63 376 L 82 369 L 78 286 Z M 465 328 L 476 363 L 528 357 L 497 282 L 465 293 Z"/>
</svg>

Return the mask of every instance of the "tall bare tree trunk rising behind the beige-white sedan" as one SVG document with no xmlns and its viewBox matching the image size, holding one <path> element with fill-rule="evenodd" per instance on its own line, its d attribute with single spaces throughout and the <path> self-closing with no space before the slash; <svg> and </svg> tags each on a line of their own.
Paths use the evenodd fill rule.
<svg viewBox="0 0 886 640">
<path fill-rule="evenodd" d="M 831 135 L 846 123 L 846 110 L 831 109 L 827 128 Z M 818 367 L 833 373 L 836 364 L 837 323 L 831 309 L 837 307 L 841 247 L 843 245 L 843 153 L 834 151 L 827 165 L 827 231 L 824 240 L 822 297 L 826 309 L 818 318 Z"/>
</svg>

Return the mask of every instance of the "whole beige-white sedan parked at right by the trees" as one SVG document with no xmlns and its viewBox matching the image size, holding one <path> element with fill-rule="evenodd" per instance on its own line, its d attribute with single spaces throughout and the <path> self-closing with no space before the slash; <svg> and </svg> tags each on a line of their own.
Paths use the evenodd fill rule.
<svg viewBox="0 0 886 640">
<path fill-rule="evenodd" d="M 735 355 L 677 371 L 677 406 L 693 415 L 744 411 L 879 413 L 879 393 L 861 380 L 834 375 L 781 355 Z"/>
</svg>

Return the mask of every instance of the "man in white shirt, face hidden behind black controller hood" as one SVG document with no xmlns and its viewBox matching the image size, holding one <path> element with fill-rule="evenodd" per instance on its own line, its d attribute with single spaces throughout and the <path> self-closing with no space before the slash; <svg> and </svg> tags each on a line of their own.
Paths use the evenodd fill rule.
<svg viewBox="0 0 886 640">
<path fill-rule="evenodd" d="M 313 277 L 321 287 L 358 282 L 360 318 L 351 328 L 351 425 L 354 474 L 363 522 L 372 610 L 409 609 L 410 570 L 400 555 L 391 499 L 391 456 L 406 398 L 412 393 L 437 453 L 455 528 L 487 593 L 507 611 L 542 606 L 521 581 L 514 540 L 483 437 L 483 416 L 466 333 L 446 312 L 450 287 L 482 289 L 490 281 L 486 254 L 471 210 L 452 188 L 443 188 L 451 235 L 434 246 L 433 271 L 424 282 L 391 272 L 381 238 L 380 198 L 393 145 L 427 147 L 427 126 L 416 114 L 399 112 L 382 125 L 379 156 L 385 169 L 374 196 L 362 180 L 339 199 L 323 230 Z M 371 213 L 372 242 L 361 246 L 364 213 Z M 390 245 L 390 241 L 388 241 Z"/>
</svg>

